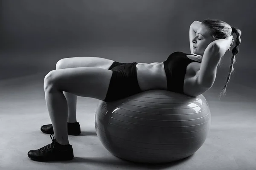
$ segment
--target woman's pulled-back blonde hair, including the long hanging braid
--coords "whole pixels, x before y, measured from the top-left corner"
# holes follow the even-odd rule
[[[232,49],[233,56],[231,58],[229,74],[227,77],[226,85],[222,88],[221,94],[219,95],[219,99],[220,99],[222,94],[224,95],[226,94],[227,83],[230,81],[230,75],[234,71],[233,65],[236,62],[236,54],[238,54],[239,52],[238,46],[241,43],[241,38],[240,38],[241,30],[235,27],[231,27],[229,24],[225,23],[224,21],[215,20],[215,19],[203,20],[201,24],[209,28],[209,31],[210,31],[210,34],[212,35],[213,40],[225,39],[226,37],[233,35],[233,33],[236,33],[236,45]]]

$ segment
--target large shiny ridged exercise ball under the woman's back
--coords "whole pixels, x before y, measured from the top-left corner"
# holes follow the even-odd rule
[[[113,102],[100,101],[95,128],[114,156],[166,163],[194,154],[209,133],[211,113],[203,95],[149,90]]]

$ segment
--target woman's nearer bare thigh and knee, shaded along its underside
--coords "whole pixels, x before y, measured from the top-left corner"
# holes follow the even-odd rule
[[[104,100],[112,71],[96,67],[64,68],[50,71],[44,78],[44,90],[57,89],[82,97]]]

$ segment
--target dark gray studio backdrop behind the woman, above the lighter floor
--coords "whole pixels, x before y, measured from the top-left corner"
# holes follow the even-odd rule
[[[51,71],[61,58],[163,62],[189,53],[194,20],[224,20],[242,30],[232,82],[254,87],[254,0],[2,0],[0,79]],[[218,68],[224,86],[231,52]],[[221,78],[221,76],[223,76]]]

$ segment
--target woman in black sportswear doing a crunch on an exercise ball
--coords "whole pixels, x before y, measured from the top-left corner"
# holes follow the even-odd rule
[[[68,134],[81,133],[76,122],[77,96],[91,97],[106,102],[150,89],[164,89],[198,96],[212,87],[217,66],[233,45],[230,73],[222,92],[225,92],[233,64],[239,51],[241,31],[220,20],[195,21],[189,30],[191,54],[174,52],[164,62],[120,63],[99,57],[61,59],[56,70],[44,79],[47,109],[52,125],[44,125],[44,133],[53,134],[52,143],[38,150],[30,150],[35,161],[73,159],[73,148]],[[68,122],[68,123],[67,123]],[[52,138],[53,135],[50,135]]]

